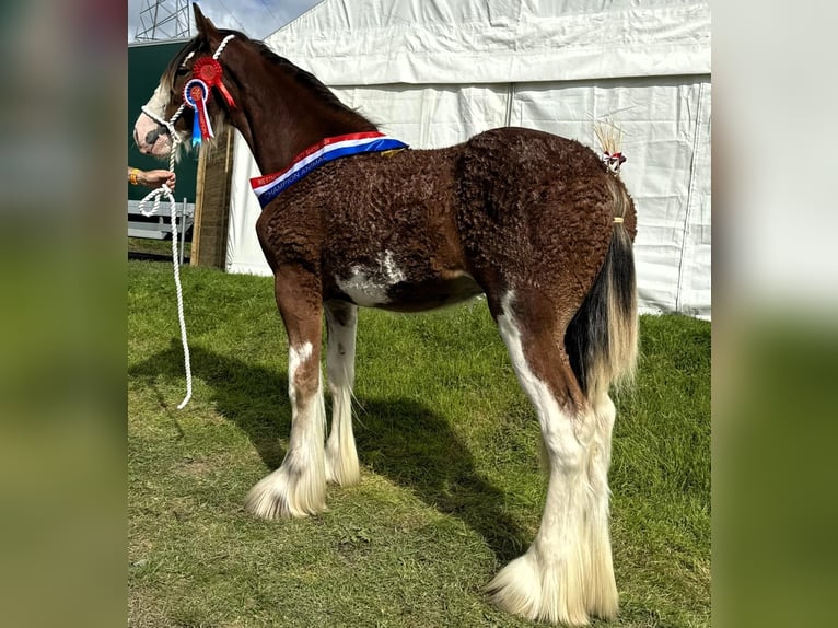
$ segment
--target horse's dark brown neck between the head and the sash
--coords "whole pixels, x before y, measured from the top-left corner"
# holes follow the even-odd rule
[[[349,108],[325,102],[311,85],[294,77],[293,66],[263,62],[269,68],[261,81],[248,81],[231,121],[244,137],[263,174],[284,170],[293,158],[323,140],[345,133],[375,130]],[[247,74],[241,74],[247,75]]]

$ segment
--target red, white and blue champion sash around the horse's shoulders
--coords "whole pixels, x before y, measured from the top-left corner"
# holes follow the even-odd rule
[[[350,133],[326,138],[298,154],[291,165],[281,172],[251,179],[251,187],[263,208],[279,193],[325,163],[360,153],[382,152],[407,148],[407,144],[379,131]]]

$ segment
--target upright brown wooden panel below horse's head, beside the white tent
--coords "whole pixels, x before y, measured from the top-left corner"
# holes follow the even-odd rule
[[[226,129],[214,148],[202,146],[198,154],[191,266],[224,268],[232,177],[233,133]]]

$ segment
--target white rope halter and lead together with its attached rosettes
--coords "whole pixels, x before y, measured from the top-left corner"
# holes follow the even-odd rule
[[[195,81],[198,81],[203,85],[205,94],[202,102],[206,104],[206,98],[209,97],[209,91],[211,88],[217,88],[221,92],[221,94],[226,100],[228,104],[231,107],[235,106],[235,103],[233,102],[233,98],[230,96],[230,93],[226,91],[226,88],[221,83],[221,66],[218,62],[218,58],[221,55],[221,53],[224,50],[224,47],[228,45],[228,43],[234,37],[235,35],[228,35],[221,40],[221,44],[219,44],[219,47],[216,49],[216,53],[212,55],[212,59],[208,57],[203,57],[201,59],[198,59],[196,61],[195,67],[193,68],[194,73],[199,74],[196,75],[194,79],[188,81],[186,83],[186,86],[188,88],[191,83],[195,83]],[[189,53],[187,57],[184,59],[184,63],[188,61],[195,53]],[[203,61],[206,59],[206,61]],[[210,68],[210,71],[207,71],[207,68]],[[197,85],[200,88],[200,85]],[[177,144],[181,142],[181,138],[178,137],[177,132],[175,131],[175,121],[177,121],[177,118],[181,117],[181,114],[184,113],[184,108],[189,104],[193,108],[196,109],[195,117],[196,117],[196,124],[199,125],[199,130],[201,131],[201,135],[199,136],[199,141],[195,142],[195,136],[193,136],[193,143],[200,143],[200,139],[203,138],[203,127],[200,126],[199,118],[206,121],[207,128],[209,129],[209,137],[212,137],[212,127],[209,126],[209,117],[206,114],[206,106],[203,106],[202,112],[199,112],[199,105],[198,103],[190,103],[189,100],[186,97],[186,90],[184,93],[184,102],[181,103],[181,106],[177,107],[177,111],[174,113],[171,119],[164,120],[159,115],[156,115],[151,109],[147,108],[146,105],[141,107],[141,111],[143,114],[149,116],[152,120],[158,123],[159,125],[162,125],[168,129],[168,137],[171,138],[171,146],[168,149],[168,170],[174,172],[175,170],[175,155],[177,154]],[[193,129],[195,131],[195,129]],[[140,213],[142,216],[154,216],[160,210],[160,199],[161,197],[165,196],[168,199],[170,205],[170,216],[172,217],[172,265],[174,266],[174,274],[175,274],[175,291],[177,292],[177,321],[181,325],[181,341],[184,346],[184,365],[186,369],[186,396],[184,397],[184,400],[181,402],[181,404],[177,406],[178,410],[182,410],[186,404],[189,403],[189,399],[193,396],[193,373],[191,373],[191,367],[189,364],[189,345],[186,339],[186,321],[184,319],[184,296],[183,296],[183,289],[181,287],[181,267],[177,261],[177,208],[175,205],[175,197],[172,194],[172,188],[170,188],[165,183],[162,184],[158,189],[154,189],[147,194],[143,199],[139,203]],[[154,206],[150,211],[146,211],[146,203],[149,201],[149,199],[154,199]]]

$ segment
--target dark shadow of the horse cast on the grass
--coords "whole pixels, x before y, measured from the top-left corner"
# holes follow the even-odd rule
[[[190,348],[191,368],[212,388],[212,403],[243,430],[265,465],[280,465],[291,427],[288,374],[200,346]],[[179,344],[129,368],[129,377],[183,376]],[[360,398],[354,415],[361,463],[410,489],[428,505],[462,520],[481,535],[501,562],[519,556],[525,535],[504,512],[503,492],[475,469],[474,457],[449,421],[414,399]],[[328,408],[327,408],[328,412]],[[244,496],[243,496],[244,497]]]

